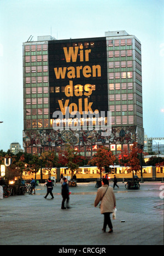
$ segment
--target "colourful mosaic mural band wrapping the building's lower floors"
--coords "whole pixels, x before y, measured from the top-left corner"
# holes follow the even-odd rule
[[[104,131],[73,131],[73,130],[26,130],[23,134],[26,147],[87,146],[95,144],[132,144],[143,143],[143,132],[136,126],[112,127],[110,136],[104,137]]]

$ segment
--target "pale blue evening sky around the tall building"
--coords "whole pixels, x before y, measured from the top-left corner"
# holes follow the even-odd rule
[[[143,120],[149,137],[164,137],[163,0],[0,0],[0,150],[22,146],[22,43],[103,37],[125,30],[142,44]]]

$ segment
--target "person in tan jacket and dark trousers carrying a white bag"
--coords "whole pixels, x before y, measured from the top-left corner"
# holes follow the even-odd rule
[[[106,232],[107,225],[109,226],[109,233],[113,232],[112,222],[110,220],[110,213],[113,213],[116,207],[116,199],[112,187],[109,187],[108,179],[102,179],[102,187],[97,190],[95,199],[95,207],[101,201],[101,214],[104,214],[103,231]]]

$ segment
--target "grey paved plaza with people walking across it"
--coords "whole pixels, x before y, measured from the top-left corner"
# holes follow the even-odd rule
[[[144,182],[140,190],[118,184],[113,234],[102,232],[103,216],[94,207],[95,183],[69,188],[67,210],[61,210],[61,184],[54,187],[54,200],[50,195],[44,199],[42,184],[36,187],[36,195],[0,200],[0,245],[163,245],[164,183]]]

